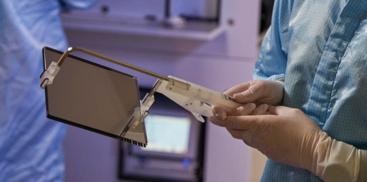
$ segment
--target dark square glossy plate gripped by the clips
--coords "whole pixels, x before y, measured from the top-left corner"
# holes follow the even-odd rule
[[[44,70],[62,52],[44,47]],[[135,77],[68,55],[46,91],[47,117],[139,146],[147,144],[144,122],[122,131],[140,107]]]

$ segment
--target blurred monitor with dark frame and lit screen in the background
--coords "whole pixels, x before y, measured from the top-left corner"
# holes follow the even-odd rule
[[[140,89],[140,95],[149,90]],[[155,93],[145,118],[146,148],[121,143],[120,177],[154,182],[201,182],[205,123],[166,96]]]

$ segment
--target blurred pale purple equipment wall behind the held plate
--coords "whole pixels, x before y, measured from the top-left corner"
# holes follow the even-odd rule
[[[160,21],[164,11],[164,0],[99,0],[88,10],[62,12],[62,22],[69,46],[82,46],[162,75],[216,91],[252,80],[258,54],[260,0],[222,0],[220,4],[217,0],[175,0],[171,2],[172,16],[203,21],[188,28],[146,25],[147,15]],[[128,73],[137,76],[144,88],[151,88],[156,80]],[[66,182],[122,181],[118,178],[118,140],[72,126],[67,129],[63,141]],[[210,122],[206,125],[204,156],[205,182],[259,181],[266,160]]]

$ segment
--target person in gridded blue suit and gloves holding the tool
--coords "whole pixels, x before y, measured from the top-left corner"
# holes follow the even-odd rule
[[[209,120],[269,158],[263,182],[366,182],[366,50],[366,0],[275,0],[254,81],[225,92],[247,104]]]

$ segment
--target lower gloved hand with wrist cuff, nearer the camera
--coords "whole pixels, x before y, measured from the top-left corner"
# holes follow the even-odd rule
[[[214,116],[209,120],[225,127],[238,139],[269,159],[309,170],[325,181],[355,182],[360,150],[329,137],[299,109],[268,106],[260,116]]]

